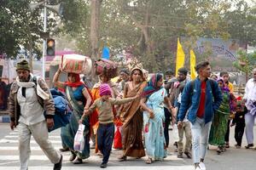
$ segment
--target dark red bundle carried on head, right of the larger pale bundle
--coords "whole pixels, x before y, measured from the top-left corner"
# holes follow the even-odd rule
[[[105,74],[110,78],[118,76],[118,66],[109,59],[99,59],[95,62],[96,75]]]

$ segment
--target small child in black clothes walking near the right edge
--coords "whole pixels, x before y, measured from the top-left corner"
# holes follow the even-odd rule
[[[235,126],[235,139],[236,139],[236,148],[241,148],[241,139],[244,133],[244,127],[245,127],[245,114],[247,113],[247,107],[244,106],[244,109],[242,111],[242,105],[237,104],[236,105],[236,114],[235,118],[233,119],[233,122],[231,124],[231,127]]]

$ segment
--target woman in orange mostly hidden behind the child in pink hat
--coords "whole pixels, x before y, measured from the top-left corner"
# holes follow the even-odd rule
[[[99,76],[99,82],[97,82],[94,85],[94,87],[91,89],[91,95],[92,95],[93,100],[101,98],[101,96],[100,96],[100,86],[101,86],[102,83],[108,83],[109,87],[111,88],[112,98],[116,98],[119,95],[116,84],[111,82],[111,79],[110,79],[110,77],[108,77],[107,74],[101,74]],[[98,152],[98,148],[97,148],[97,145],[96,145],[96,132],[97,132],[97,128],[99,126],[99,123],[98,123],[97,117],[98,117],[97,110],[94,111],[90,115],[90,126],[92,127],[92,132],[93,132],[92,137],[91,137],[91,139],[93,141],[93,147],[91,147],[91,148],[95,148],[95,153]]]

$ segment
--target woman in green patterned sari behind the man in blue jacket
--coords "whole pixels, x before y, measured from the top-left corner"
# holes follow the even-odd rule
[[[230,94],[229,88],[224,85],[223,79],[218,79],[218,86],[223,94],[223,101],[215,112],[212,120],[212,127],[209,136],[209,144],[217,145],[217,153],[220,154],[225,150],[225,133],[227,131],[227,123],[230,117],[231,101],[235,99],[233,94]]]

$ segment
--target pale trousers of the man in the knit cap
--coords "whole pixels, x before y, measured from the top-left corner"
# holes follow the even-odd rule
[[[48,129],[45,121],[38,122],[34,125],[26,125],[20,122],[17,128],[19,131],[20,170],[26,170],[28,167],[28,160],[31,155],[31,135],[44,151],[44,154],[49,158],[49,161],[54,164],[60,161],[61,154],[55,150],[49,141]]]

